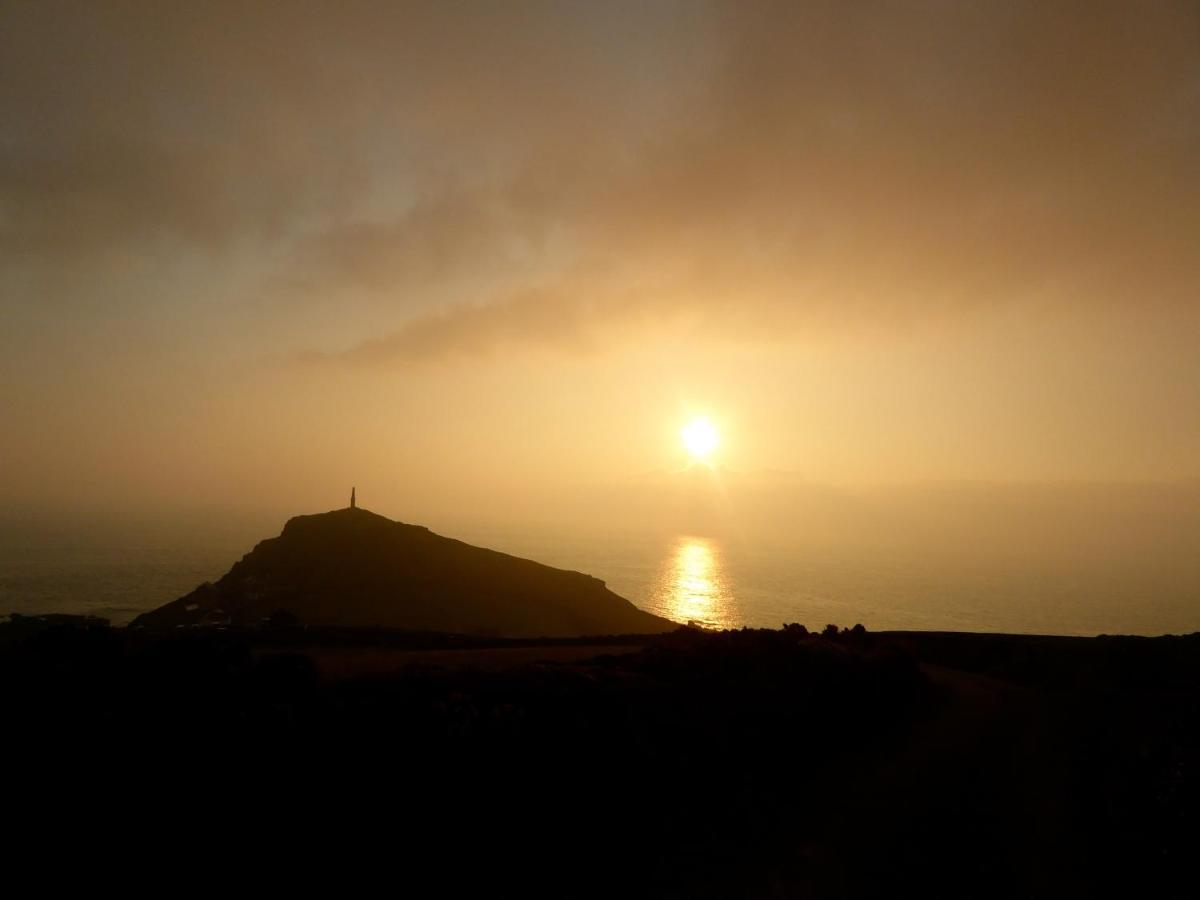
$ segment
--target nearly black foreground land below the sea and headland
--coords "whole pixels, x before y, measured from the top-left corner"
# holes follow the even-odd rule
[[[1200,893],[1200,635],[50,617],[0,625],[0,684],[10,862],[413,896]]]

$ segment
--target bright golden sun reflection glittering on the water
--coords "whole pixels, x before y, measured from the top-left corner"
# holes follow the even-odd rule
[[[728,628],[736,620],[720,547],[706,538],[679,538],[655,590],[661,614],[676,622]]]

